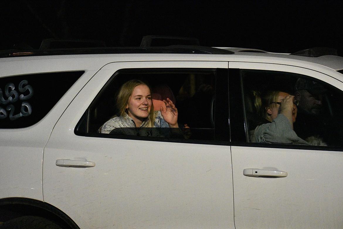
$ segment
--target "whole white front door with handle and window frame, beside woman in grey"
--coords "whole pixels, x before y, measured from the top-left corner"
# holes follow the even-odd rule
[[[328,107],[331,112],[326,124],[335,120],[331,134],[341,139],[342,82],[294,66],[230,62],[229,68],[230,78],[241,79],[230,96],[243,95],[236,99],[235,107],[231,107],[230,99],[230,115],[235,115],[230,123],[236,131],[231,131],[236,228],[342,228],[341,140],[335,146],[300,146],[253,143],[249,139],[249,131],[255,128],[249,128],[254,107],[254,101],[249,101],[251,90],[256,90],[256,85],[261,85],[260,90],[284,86],[291,90],[298,78],[326,88],[322,108]],[[299,114],[299,106],[297,109]],[[245,136],[241,134],[244,130]]]

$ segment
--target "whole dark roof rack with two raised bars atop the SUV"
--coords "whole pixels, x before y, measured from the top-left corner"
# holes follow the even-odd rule
[[[153,39],[166,39],[152,45]],[[173,41],[173,42],[171,42]],[[175,42],[176,41],[176,42]],[[169,44],[171,42],[171,44]],[[175,44],[179,43],[179,44]],[[182,45],[186,43],[186,45]],[[156,46],[159,44],[160,46]],[[167,46],[166,46],[167,45]],[[145,36],[140,47],[106,47],[105,42],[86,39],[44,39],[39,49],[29,46],[0,51],[0,58],[14,56],[51,56],[80,54],[234,54],[222,48],[199,46],[197,38],[175,36]]]

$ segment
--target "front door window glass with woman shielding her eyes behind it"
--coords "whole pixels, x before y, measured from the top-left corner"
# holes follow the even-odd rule
[[[241,70],[248,142],[342,147],[343,92],[304,75]]]

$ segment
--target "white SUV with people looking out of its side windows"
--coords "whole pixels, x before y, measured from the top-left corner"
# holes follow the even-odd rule
[[[0,228],[343,228],[343,57],[50,49],[0,69]],[[168,91],[184,135],[99,133],[130,79]],[[298,79],[324,88],[318,131],[298,120],[324,144],[252,142],[251,93]]]

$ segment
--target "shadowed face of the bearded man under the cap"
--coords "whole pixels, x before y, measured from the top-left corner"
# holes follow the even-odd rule
[[[323,101],[322,94],[311,94],[307,90],[301,90],[296,92],[295,99],[299,101],[299,107],[303,110],[319,114]]]

